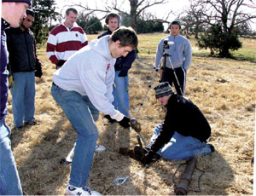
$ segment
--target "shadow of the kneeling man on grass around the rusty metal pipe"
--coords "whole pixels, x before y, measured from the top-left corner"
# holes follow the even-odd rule
[[[185,163],[184,160],[168,161],[161,160],[160,164],[154,164],[154,171],[161,177],[162,182],[170,187],[170,194],[175,195],[174,187],[177,186],[179,179],[183,174],[186,164],[182,165],[173,178],[175,171],[180,164]],[[165,167],[164,165],[170,165]],[[230,164],[224,157],[215,151],[205,157],[197,159],[196,167],[199,170],[194,170],[192,181],[189,185],[189,195],[228,195],[229,187],[234,181],[234,173]],[[172,170],[170,170],[172,168]],[[168,170],[166,170],[168,169]],[[202,174],[201,170],[204,171]],[[202,176],[201,176],[202,175]],[[201,179],[199,177],[201,176]],[[174,182],[173,182],[174,181]],[[201,188],[200,192],[198,187]],[[211,183],[210,183],[211,182]]]

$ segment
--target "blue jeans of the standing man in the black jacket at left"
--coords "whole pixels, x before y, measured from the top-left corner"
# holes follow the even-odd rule
[[[35,114],[35,72],[14,72],[11,89],[15,127],[32,122]]]

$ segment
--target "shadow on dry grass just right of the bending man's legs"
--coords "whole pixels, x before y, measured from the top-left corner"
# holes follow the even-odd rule
[[[107,148],[106,152],[95,153],[94,162],[90,171],[90,185],[97,187],[103,195],[132,195],[142,194],[131,181],[125,186],[117,186],[114,180],[131,174],[131,159],[119,154],[121,147],[130,148],[130,130],[123,129],[119,124],[102,126],[98,144]]]

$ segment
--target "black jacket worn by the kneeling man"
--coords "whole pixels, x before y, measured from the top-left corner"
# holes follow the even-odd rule
[[[211,127],[207,118],[192,101],[181,95],[172,95],[166,105],[167,112],[160,135],[151,146],[157,152],[160,147],[172,139],[175,131],[184,136],[192,136],[206,141],[211,135]]]

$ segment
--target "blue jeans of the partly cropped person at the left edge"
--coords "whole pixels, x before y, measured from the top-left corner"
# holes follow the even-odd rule
[[[9,140],[10,130],[0,121],[0,195],[22,195],[20,177]]]

